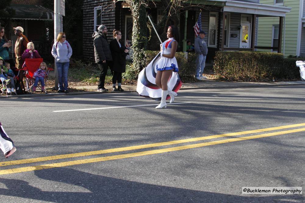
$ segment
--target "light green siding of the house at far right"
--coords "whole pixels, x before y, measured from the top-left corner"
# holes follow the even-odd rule
[[[274,5],[274,0],[260,0],[260,3]],[[283,6],[291,7],[292,9],[290,10],[290,12],[286,13],[286,17],[283,23],[282,53],[284,53],[285,56],[296,55],[300,0],[284,0]],[[257,46],[271,46],[272,26],[278,24],[279,24],[278,17],[258,18]],[[271,50],[258,49],[257,51],[271,51]]]

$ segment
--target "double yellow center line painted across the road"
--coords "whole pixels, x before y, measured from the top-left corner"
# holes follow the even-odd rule
[[[66,158],[81,157],[81,156],[91,156],[91,155],[99,155],[99,154],[106,154],[106,153],[113,153],[113,152],[123,152],[123,151],[135,150],[135,149],[145,149],[145,148],[160,147],[160,146],[165,146],[165,145],[181,144],[181,143],[186,143],[186,142],[196,142],[196,141],[202,141],[202,140],[214,139],[214,138],[222,138],[222,137],[230,137],[230,136],[237,136],[237,135],[246,135],[246,134],[251,134],[251,133],[260,133],[260,132],[265,132],[265,131],[281,130],[281,129],[286,129],[286,128],[296,128],[296,127],[301,127],[301,126],[305,126],[305,123],[285,125],[285,126],[279,126],[279,127],[274,127],[274,128],[263,128],[263,129],[258,129],[258,130],[242,131],[242,132],[235,132],[235,133],[227,133],[227,134],[221,134],[221,135],[211,135],[211,136],[205,136],[205,137],[199,137],[199,138],[189,138],[189,139],[175,140],[175,141],[169,141],[169,142],[159,142],[159,143],[137,145],[137,146],[130,146],[130,147],[104,149],[104,150],[91,151],[91,152],[80,152],[80,153],[73,153],[73,154],[38,157],[38,158],[32,158],[32,159],[21,159],[21,160],[16,160],[16,161],[0,162],[0,166],[35,163],[35,162],[41,162],[41,161],[50,161],[50,160],[56,160],[56,159],[66,159]],[[48,168],[72,166],[72,165],[83,164],[83,163],[95,163],[95,162],[115,160],[115,159],[124,159],[124,158],[136,157],[136,156],[159,154],[159,153],[164,153],[164,152],[173,152],[173,151],[178,151],[178,150],[183,150],[183,149],[192,149],[192,148],[197,148],[197,147],[236,142],[236,141],[241,141],[241,140],[263,138],[263,137],[269,137],[269,136],[275,136],[275,135],[283,135],[283,134],[295,133],[295,132],[300,132],[300,131],[305,131],[305,128],[297,128],[297,129],[292,129],[292,130],[287,130],[287,131],[278,131],[278,132],[265,133],[265,134],[260,134],[260,135],[251,135],[251,136],[240,137],[240,138],[230,138],[230,139],[217,140],[217,141],[212,141],[212,142],[203,142],[203,143],[199,143],[199,144],[183,145],[183,146],[178,146],[178,147],[170,147],[170,148],[149,150],[149,151],[143,151],[143,152],[127,153],[127,154],[115,155],[115,156],[105,156],[105,157],[99,157],[99,158],[81,159],[81,160],[66,161],[66,162],[60,162],[60,163],[44,164],[44,165],[38,165],[38,166],[28,166],[28,167],[21,167],[21,168],[5,169],[5,170],[0,170],[0,175],[10,174],[10,173],[20,173],[20,172],[33,171],[33,170],[42,170],[42,169],[48,169]]]

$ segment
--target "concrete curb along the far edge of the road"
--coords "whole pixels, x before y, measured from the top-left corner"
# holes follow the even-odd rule
[[[305,85],[305,83],[286,83],[286,84],[253,84],[253,85],[209,85],[202,87],[182,87],[180,89],[224,89],[224,88],[246,88],[246,87],[272,87],[272,86],[300,86]],[[124,90],[124,92],[136,92],[136,90]],[[22,94],[22,95],[10,95],[10,96],[0,96],[1,98],[19,98],[19,97],[35,97],[35,96],[68,96],[68,95],[80,95],[80,94],[105,94],[105,93],[124,93],[124,92],[75,92],[75,93],[48,93],[48,94]]]

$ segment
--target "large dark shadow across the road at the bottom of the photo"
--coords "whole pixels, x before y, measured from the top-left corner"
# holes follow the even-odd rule
[[[69,168],[38,170],[35,175],[43,180],[69,184],[73,191],[42,191],[23,180],[0,178],[0,183],[8,189],[0,188],[1,195],[21,197],[31,200],[51,202],[303,202],[301,195],[249,196],[245,194],[230,195],[205,191],[188,190],[139,183],[85,173]],[[45,181],[39,181],[41,184]],[[50,183],[48,183],[50,184]],[[203,183],[204,184],[204,183]],[[77,186],[77,187],[76,187]],[[61,185],[61,187],[63,187]],[[82,189],[83,188],[83,189]],[[66,189],[69,190],[69,189]],[[240,188],[241,190],[241,188]],[[241,192],[241,191],[240,191]],[[3,199],[2,199],[3,202]]]

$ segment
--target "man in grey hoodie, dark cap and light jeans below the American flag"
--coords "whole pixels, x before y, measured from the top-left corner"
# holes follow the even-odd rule
[[[200,30],[194,44],[195,52],[197,55],[195,75],[197,80],[206,79],[206,77],[202,75],[204,67],[206,66],[206,54],[208,53],[208,47],[206,46],[206,42],[203,39],[205,36],[206,33],[203,30]]]

